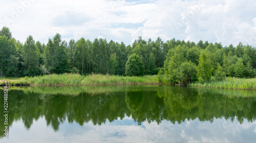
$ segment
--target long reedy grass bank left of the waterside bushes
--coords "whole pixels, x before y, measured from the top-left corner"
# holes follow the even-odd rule
[[[6,78],[8,79],[8,78]],[[156,75],[150,76],[118,76],[91,74],[87,76],[79,74],[51,74],[36,77],[25,77],[10,80],[12,85],[114,85],[114,84],[158,84]],[[4,81],[1,81],[4,85]]]

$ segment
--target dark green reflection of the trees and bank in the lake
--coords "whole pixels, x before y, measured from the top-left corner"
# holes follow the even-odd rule
[[[101,125],[106,120],[122,120],[125,116],[138,124],[162,121],[180,124],[195,119],[212,122],[224,117],[243,124],[254,123],[256,114],[255,91],[251,90],[147,85],[12,87],[9,91],[12,116],[8,118],[8,125],[14,126],[15,121],[23,120],[28,130],[38,118],[46,120],[47,125],[57,131],[63,122],[82,127],[91,122]],[[0,101],[3,100],[4,96],[0,96]],[[1,105],[3,112],[4,104]],[[0,129],[4,128],[1,124]]]

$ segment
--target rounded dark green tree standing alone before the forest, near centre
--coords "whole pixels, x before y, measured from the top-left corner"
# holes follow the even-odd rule
[[[141,76],[144,75],[144,66],[141,58],[136,54],[131,54],[125,65],[127,76]]]

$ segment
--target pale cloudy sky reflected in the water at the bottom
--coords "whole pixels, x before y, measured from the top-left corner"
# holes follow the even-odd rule
[[[58,131],[47,126],[44,118],[33,121],[30,129],[24,127],[23,121],[12,124],[8,140],[0,142],[253,142],[255,141],[256,122],[244,121],[240,124],[237,119],[215,119],[214,122],[200,122],[198,119],[172,124],[162,121],[141,126],[130,117],[120,118],[112,123],[108,120],[102,125],[93,125],[92,122],[60,124]],[[40,130],[38,130],[40,129]]]

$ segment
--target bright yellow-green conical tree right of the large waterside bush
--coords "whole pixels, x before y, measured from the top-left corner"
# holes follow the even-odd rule
[[[199,64],[197,66],[197,77],[199,82],[209,81],[212,76],[211,61],[208,58],[209,53],[202,51],[199,58]]]

